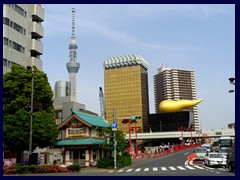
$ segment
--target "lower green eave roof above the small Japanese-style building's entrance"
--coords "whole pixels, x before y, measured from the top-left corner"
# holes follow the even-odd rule
[[[105,141],[102,138],[78,138],[78,139],[62,139],[57,141],[55,146],[76,146],[76,145],[100,145]]]

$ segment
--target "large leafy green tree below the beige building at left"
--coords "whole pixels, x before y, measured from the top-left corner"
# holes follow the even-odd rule
[[[47,75],[34,68],[32,149],[52,145],[58,136],[54,118],[53,92]],[[17,162],[29,149],[32,72],[23,66],[12,66],[3,75],[3,141]]]

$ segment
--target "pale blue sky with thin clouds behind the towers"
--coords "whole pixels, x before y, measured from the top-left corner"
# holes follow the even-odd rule
[[[76,8],[78,102],[100,113],[103,62],[139,54],[148,63],[150,113],[153,76],[162,65],[195,71],[200,127],[220,129],[235,122],[235,6],[228,4],[42,4],[45,8],[43,71],[54,88],[68,80],[66,63]]]

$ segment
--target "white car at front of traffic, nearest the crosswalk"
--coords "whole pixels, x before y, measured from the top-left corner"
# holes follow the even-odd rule
[[[206,166],[225,166],[226,167],[226,158],[224,158],[223,155],[218,152],[207,152],[207,155],[204,158],[204,164]]]

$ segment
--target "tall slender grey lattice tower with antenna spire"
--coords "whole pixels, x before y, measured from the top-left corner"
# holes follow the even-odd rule
[[[71,83],[71,97],[73,101],[77,100],[77,73],[80,64],[77,62],[77,43],[75,36],[75,8],[72,8],[72,37],[69,45],[70,61],[66,64],[69,73],[69,81]]]

